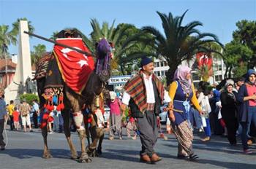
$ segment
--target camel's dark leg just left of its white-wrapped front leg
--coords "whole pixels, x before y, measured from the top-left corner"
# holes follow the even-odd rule
[[[78,153],[77,153],[75,146],[71,140],[71,133],[70,133],[70,127],[69,127],[69,111],[67,111],[67,110],[62,111],[61,114],[62,114],[62,117],[64,120],[64,133],[67,138],[67,144],[69,144],[71,158],[78,159]]]

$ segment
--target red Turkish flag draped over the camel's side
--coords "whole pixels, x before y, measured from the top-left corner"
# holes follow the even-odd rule
[[[56,39],[56,42],[89,52],[80,38],[61,38]],[[53,50],[64,82],[75,93],[81,93],[86,86],[89,75],[94,70],[93,57],[59,45],[55,45]]]

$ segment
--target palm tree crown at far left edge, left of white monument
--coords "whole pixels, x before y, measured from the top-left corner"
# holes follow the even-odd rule
[[[9,31],[9,25],[0,25],[0,58],[3,59],[7,57],[7,50],[10,44],[16,44],[16,36]]]

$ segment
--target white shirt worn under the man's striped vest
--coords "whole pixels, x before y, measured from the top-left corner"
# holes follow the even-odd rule
[[[152,82],[152,75],[149,76],[148,78],[146,78],[146,74],[143,74],[143,79],[144,79],[144,83],[146,86],[147,103],[155,103],[156,101],[154,99],[154,88],[153,88],[153,82]],[[131,96],[126,91],[124,91],[122,103],[128,105],[130,99],[131,99]],[[166,91],[164,94],[164,102],[165,103],[170,102],[170,97]]]

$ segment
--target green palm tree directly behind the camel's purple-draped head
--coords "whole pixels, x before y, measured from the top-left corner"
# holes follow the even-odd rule
[[[121,73],[124,74],[124,67],[131,60],[135,58],[140,58],[142,55],[148,54],[145,52],[145,48],[141,47],[141,44],[138,44],[138,39],[140,38],[141,42],[143,39],[142,35],[145,35],[145,32],[141,33],[138,28],[135,28],[131,24],[119,24],[114,28],[115,20],[113,23],[108,25],[108,23],[103,22],[102,27],[99,25],[99,22],[96,19],[91,20],[91,27],[93,31],[91,33],[92,42],[96,43],[100,38],[105,37],[109,42],[114,44],[114,59],[111,63],[113,69],[120,67]],[[134,33],[134,36],[129,36],[129,31]],[[144,46],[145,47],[145,46]],[[129,64],[132,66],[132,64]]]

